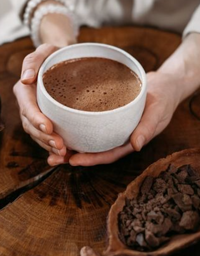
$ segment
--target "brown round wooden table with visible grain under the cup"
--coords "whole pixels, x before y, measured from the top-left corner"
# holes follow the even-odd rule
[[[145,70],[157,69],[181,43],[176,34],[150,28],[83,28],[80,42],[125,49]],[[25,132],[12,93],[21,63],[33,51],[29,38],[0,47],[0,255],[75,256],[84,245],[102,252],[106,216],[119,192],[149,164],[174,151],[200,146],[200,96],[177,109],[170,125],[139,153],[110,165],[50,168],[46,152]],[[199,255],[200,243],[177,255]]]

